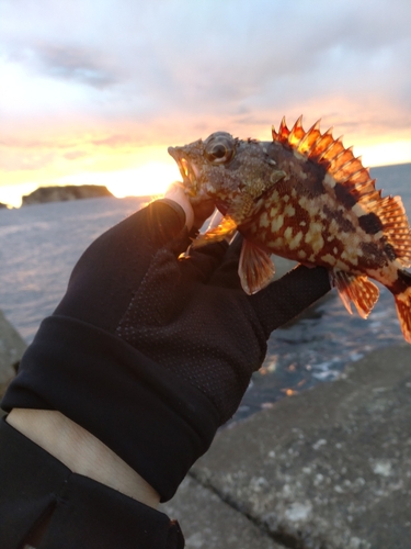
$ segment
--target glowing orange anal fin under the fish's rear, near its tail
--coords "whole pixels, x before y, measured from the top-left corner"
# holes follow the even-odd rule
[[[331,278],[349,313],[352,314],[353,302],[359,316],[366,318],[378,300],[378,288],[366,276],[345,271],[332,271]]]

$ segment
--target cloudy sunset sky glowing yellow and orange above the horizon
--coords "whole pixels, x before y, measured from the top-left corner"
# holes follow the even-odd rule
[[[365,166],[411,161],[410,0],[0,0],[0,202],[161,193],[168,146],[300,114]]]

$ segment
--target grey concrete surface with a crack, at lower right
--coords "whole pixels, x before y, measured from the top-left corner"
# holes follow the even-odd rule
[[[168,507],[189,549],[410,549],[411,347],[221,430],[191,474]]]

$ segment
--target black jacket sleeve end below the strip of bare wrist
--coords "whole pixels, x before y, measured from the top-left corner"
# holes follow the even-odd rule
[[[0,419],[0,547],[23,547],[49,513],[38,547],[182,549],[167,515],[81,474]],[[24,545],[24,547],[26,547]]]

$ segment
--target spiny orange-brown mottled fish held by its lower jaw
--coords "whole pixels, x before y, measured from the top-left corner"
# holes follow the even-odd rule
[[[288,128],[283,117],[270,142],[218,131],[168,150],[190,200],[212,199],[222,214],[192,247],[239,232],[239,277],[248,294],[273,280],[274,254],[327,268],[349,313],[353,304],[366,318],[379,296],[374,279],[393,294],[411,343],[411,229],[402,200],[383,198],[333,128],[322,133],[318,121],[305,131],[302,116]]]

